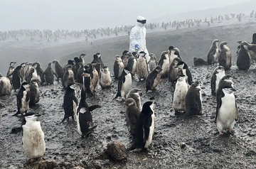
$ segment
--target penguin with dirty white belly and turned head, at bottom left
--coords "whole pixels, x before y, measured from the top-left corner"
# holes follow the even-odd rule
[[[40,121],[37,121],[40,114],[27,113],[21,124],[22,146],[25,155],[30,159],[39,158],[42,160],[46,152],[46,142]]]

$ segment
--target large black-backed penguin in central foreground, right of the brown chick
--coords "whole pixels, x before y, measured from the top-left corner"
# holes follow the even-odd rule
[[[132,146],[128,148],[128,151],[132,151],[135,148],[149,148],[154,135],[156,120],[153,105],[153,102],[145,102],[143,104],[142,112],[139,114],[135,126],[133,143]]]

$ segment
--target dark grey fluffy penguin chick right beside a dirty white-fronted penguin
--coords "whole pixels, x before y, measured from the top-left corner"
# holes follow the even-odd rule
[[[202,93],[199,82],[193,82],[186,94],[186,115],[194,116],[202,114]]]

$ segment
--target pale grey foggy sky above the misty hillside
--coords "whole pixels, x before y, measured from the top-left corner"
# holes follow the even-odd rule
[[[138,15],[150,21],[172,13],[242,2],[245,0],[0,0],[0,31],[113,28],[134,25]]]

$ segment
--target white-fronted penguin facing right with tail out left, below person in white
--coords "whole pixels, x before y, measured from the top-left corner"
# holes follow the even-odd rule
[[[118,88],[117,88],[117,94],[114,97],[114,99],[117,99],[117,97],[122,97],[122,99],[125,99],[129,90],[132,88],[132,75],[124,68],[124,71],[122,72],[122,76],[119,79],[118,82]]]

